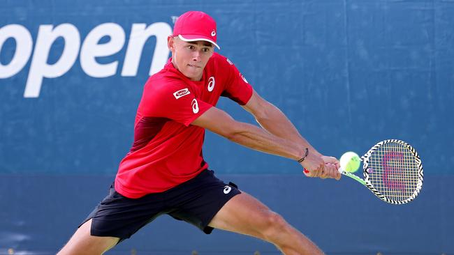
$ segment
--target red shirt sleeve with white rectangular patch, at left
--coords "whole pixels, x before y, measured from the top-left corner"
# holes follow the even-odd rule
[[[140,105],[145,116],[169,118],[186,126],[212,107],[196,98],[183,82],[145,87]]]

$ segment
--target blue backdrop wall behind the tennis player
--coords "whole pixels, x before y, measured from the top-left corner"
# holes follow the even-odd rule
[[[154,50],[186,10],[217,20],[220,53],[322,153],[362,153],[377,141],[402,139],[420,153],[425,185],[416,201],[390,206],[351,180],[306,180],[295,162],[208,133],[204,155],[212,169],[242,183],[327,252],[454,254],[448,241],[454,240],[448,217],[454,214],[454,1],[441,0],[2,1],[0,254],[10,247],[56,251],[103,197],[131,146],[150,66],[168,56]],[[138,42],[132,28],[140,24],[153,24],[156,36],[142,52],[129,51]],[[45,29],[57,28],[66,31],[66,41],[49,40]],[[112,37],[103,36],[108,32]],[[104,56],[90,48],[96,33],[110,49]],[[13,34],[20,39],[7,36]],[[52,44],[46,48],[46,42]],[[135,58],[133,49],[140,53]],[[109,63],[113,68],[103,71]],[[254,121],[228,100],[218,107]],[[314,214],[319,225],[302,217]],[[368,229],[364,222],[371,220],[375,226]],[[156,228],[168,231],[166,224],[176,224],[184,236],[170,242],[152,224],[117,251],[138,247],[156,254],[166,245],[205,254],[273,250],[237,235],[203,237],[170,219],[159,219]]]

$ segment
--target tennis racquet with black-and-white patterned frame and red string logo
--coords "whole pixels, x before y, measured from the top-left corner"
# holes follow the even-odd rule
[[[389,139],[361,157],[364,179],[339,168],[388,203],[409,203],[423,187],[423,164],[416,150],[404,141]],[[305,172],[308,171],[305,169]]]

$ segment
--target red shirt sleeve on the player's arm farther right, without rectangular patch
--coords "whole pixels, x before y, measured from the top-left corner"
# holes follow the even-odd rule
[[[239,105],[246,105],[251,99],[253,88],[233,65],[229,59],[225,59],[228,68],[227,84],[222,92],[222,96],[228,97]]]

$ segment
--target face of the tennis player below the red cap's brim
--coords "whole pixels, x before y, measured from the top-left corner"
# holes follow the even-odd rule
[[[203,76],[203,68],[214,52],[213,45],[203,40],[185,42],[171,36],[167,41],[175,68],[192,81],[200,81]]]

